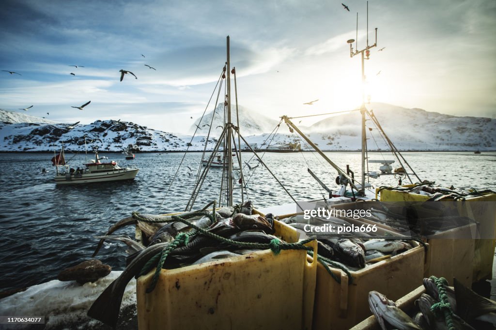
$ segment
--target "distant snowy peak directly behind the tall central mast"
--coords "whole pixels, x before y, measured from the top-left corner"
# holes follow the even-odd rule
[[[245,107],[238,106],[239,111],[239,119],[241,127],[241,135],[244,137],[253,134],[262,134],[271,132],[274,127],[279,123],[278,120],[271,119],[259,112],[248,110]],[[231,122],[237,125],[237,116],[236,116],[236,106],[231,105]],[[212,116],[214,117],[212,121]],[[191,125],[190,131],[194,132],[196,130],[196,125],[200,127],[200,129],[196,132],[196,134],[207,135],[209,126],[212,127],[210,136],[212,134],[214,136],[219,136],[222,133],[222,128],[217,126],[224,125],[224,104],[219,103],[217,108],[213,111],[205,113],[205,115],[200,118],[197,118],[194,121],[194,124]]]

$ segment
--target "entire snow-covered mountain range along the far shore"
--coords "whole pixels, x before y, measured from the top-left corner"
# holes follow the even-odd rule
[[[496,150],[496,119],[484,117],[457,117],[422,109],[406,109],[387,104],[372,104],[379,123],[400,150]],[[222,125],[223,105],[217,107],[212,130]],[[43,118],[26,116],[22,113],[1,110],[0,112],[0,151],[53,151],[62,141],[67,149],[84,150],[84,136],[87,141],[94,140],[93,146],[101,151],[121,151],[127,145],[137,145],[141,151],[190,151],[203,150],[210,112],[195,120],[202,129],[191,135],[173,134],[143,127],[132,122],[97,120],[87,125],[47,122]],[[216,117],[219,117],[218,119]],[[26,121],[23,121],[26,120]],[[264,148],[271,144],[301,142],[296,133],[289,132],[281,125],[278,133],[269,133],[278,124],[277,120],[267,118],[244,108],[240,109],[241,131],[250,144]],[[359,150],[361,148],[361,117],[359,111],[336,115],[323,119],[310,127],[301,127],[310,139],[324,151]],[[196,128],[194,125],[192,126]],[[368,149],[386,150],[387,146],[371,120],[367,121]],[[212,149],[221,128],[209,138]],[[201,135],[200,135],[201,134]],[[250,135],[254,134],[254,135]]]

